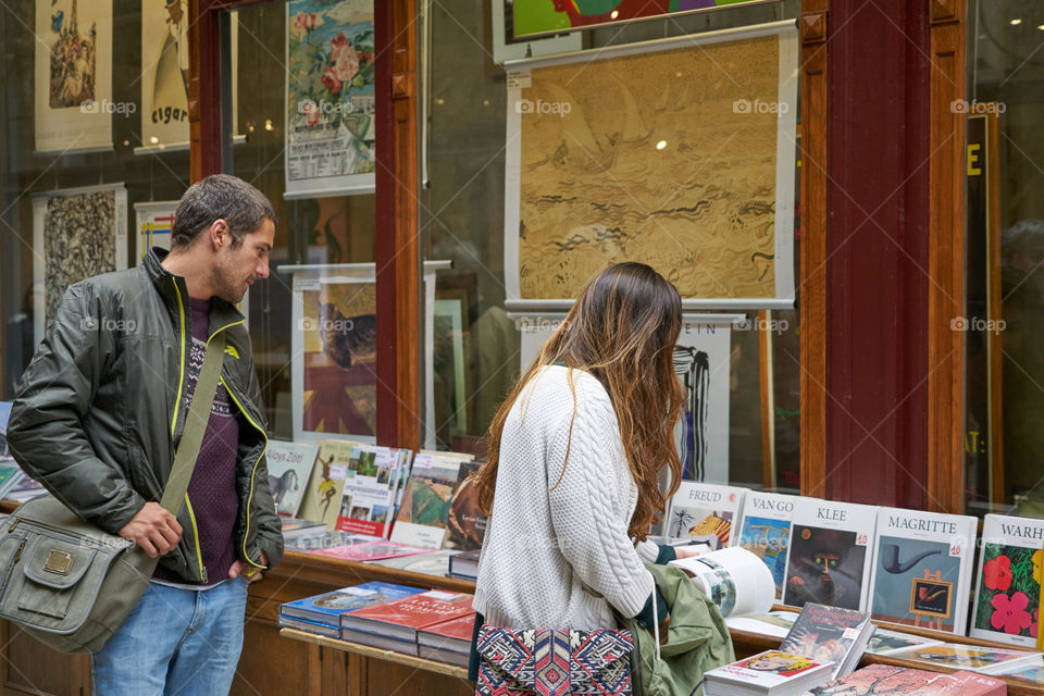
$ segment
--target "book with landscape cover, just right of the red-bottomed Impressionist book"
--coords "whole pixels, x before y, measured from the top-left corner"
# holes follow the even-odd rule
[[[443,548],[453,490],[461,462],[435,455],[418,455],[406,483],[391,540],[431,549]]]

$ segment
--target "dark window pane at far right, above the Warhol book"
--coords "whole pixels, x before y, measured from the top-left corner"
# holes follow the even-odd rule
[[[970,0],[968,32],[967,508],[1044,517],[1044,7]]]

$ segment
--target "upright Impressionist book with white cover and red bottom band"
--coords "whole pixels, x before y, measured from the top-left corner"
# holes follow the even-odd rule
[[[352,447],[334,529],[387,538],[400,465],[396,452],[387,447]]]

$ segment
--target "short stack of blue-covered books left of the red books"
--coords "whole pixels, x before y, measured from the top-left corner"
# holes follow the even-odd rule
[[[341,616],[424,592],[419,587],[370,582],[289,601],[279,607],[278,624],[330,638],[341,637]]]

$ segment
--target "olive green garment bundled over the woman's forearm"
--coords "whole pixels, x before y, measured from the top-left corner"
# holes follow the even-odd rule
[[[714,602],[680,569],[652,564],[646,568],[667,601],[671,622],[667,642],[658,645],[657,637],[634,619],[624,621],[624,627],[634,636],[634,651],[631,654],[634,693],[644,696],[699,695],[704,672],[736,659],[729,627]]]

